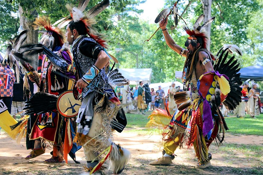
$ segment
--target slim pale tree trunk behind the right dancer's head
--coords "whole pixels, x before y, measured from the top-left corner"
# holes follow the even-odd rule
[[[204,22],[206,22],[209,18],[211,18],[211,5],[212,5],[212,0],[203,0],[203,11],[205,15]],[[205,31],[208,37],[206,49],[210,51],[211,24],[205,26]]]

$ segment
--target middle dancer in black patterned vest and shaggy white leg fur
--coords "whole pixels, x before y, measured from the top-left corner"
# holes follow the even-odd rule
[[[76,94],[76,98],[82,99],[74,141],[83,146],[87,159],[85,169],[90,174],[104,174],[102,164],[108,157],[109,168],[118,174],[124,169],[130,153],[113,141],[112,128],[121,132],[127,124],[113,86],[126,85],[129,81],[118,73],[118,69],[109,69],[109,57],[115,62],[117,60],[105,51],[105,40],[92,28],[92,17],[105,9],[109,1],[103,1],[87,13],[83,13],[88,2],[80,1],[78,8],[67,5],[71,17],[61,22],[64,24],[70,21],[66,28],[66,36],[68,43],[72,45],[78,80],[73,91],[74,94],[79,93]],[[116,120],[118,116],[122,117]],[[120,123],[122,119],[126,124]]]

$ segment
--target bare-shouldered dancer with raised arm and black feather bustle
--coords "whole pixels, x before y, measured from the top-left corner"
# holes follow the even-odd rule
[[[174,100],[181,104],[173,117],[168,112],[155,110],[149,116],[147,126],[161,126],[164,129],[163,157],[150,162],[150,165],[169,165],[174,158],[174,151],[185,142],[188,146],[194,146],[199,163],[196,168],[210,166],[211,155],[208,147],[212,141],[219,145],[224,139],[227,130],[224,118],[219,110],[221,102],[227,108],[233,109],[241,101],[241,85],[239,64],[234,56],[225,63],[228,52],[240,49],[236,45],[224,45],[217,55],[220,54],[213,66],[214,56],[206,49],[207,38],[201,29],[211,23],[211,18],[202,26],[204,15],[201,15],[193,29],[185,27],[184,30],[190,37],[185,42],[186,49],[177,45],[169,35],[166,24],[162,19],[159,23],[163,30],[166,44],[179,55],[186,57],[183,69],[184,92],[176,92]],[[222,51],[222,52],[221,52]],[[221,52],[221,53],[220,53]],[[236,65],[237,64],[237,65]],[[224,75],[225,74],[225,75]],[[231,93],[230,93],[231,88]],[[232,91],[233,90],[233,91]],[[223,132],[223,136],[219,135]]]

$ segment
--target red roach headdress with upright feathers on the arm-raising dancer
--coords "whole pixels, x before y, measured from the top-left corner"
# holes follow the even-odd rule
[[[201,47],[206,49],[206,44],[207,44],[207,36],[204,32],[202,32],[202,28],[207,26],[208,24],[210,24],[211,22],[213,22],[213,20],[215,19],[215,17],[211,17],[210,19],[208,19],[203,25],[200,26],[200,23],[204,20],[205,15],[201,14],[198,19],[196,20],[193,29],[189,29],[187,26],[184,27],[184,30],[186,31],[186,33],[188,35],[190,35],[190,37],[188,37],[188,39],[185,42],[185,46],[189,46],[189,44],[191,43],[192,46],[196,46],[198,43],[198,38],[202,39],[202,45]]]

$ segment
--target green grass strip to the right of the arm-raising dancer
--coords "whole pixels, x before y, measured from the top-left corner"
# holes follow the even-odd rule
[[[263,114],[256,116],[257,118],[251,118],[246,116],[245,118],[226,117],[226,124],[229,128],[228,132],[234,134],[247,134],[247,135],[263,135]]]

